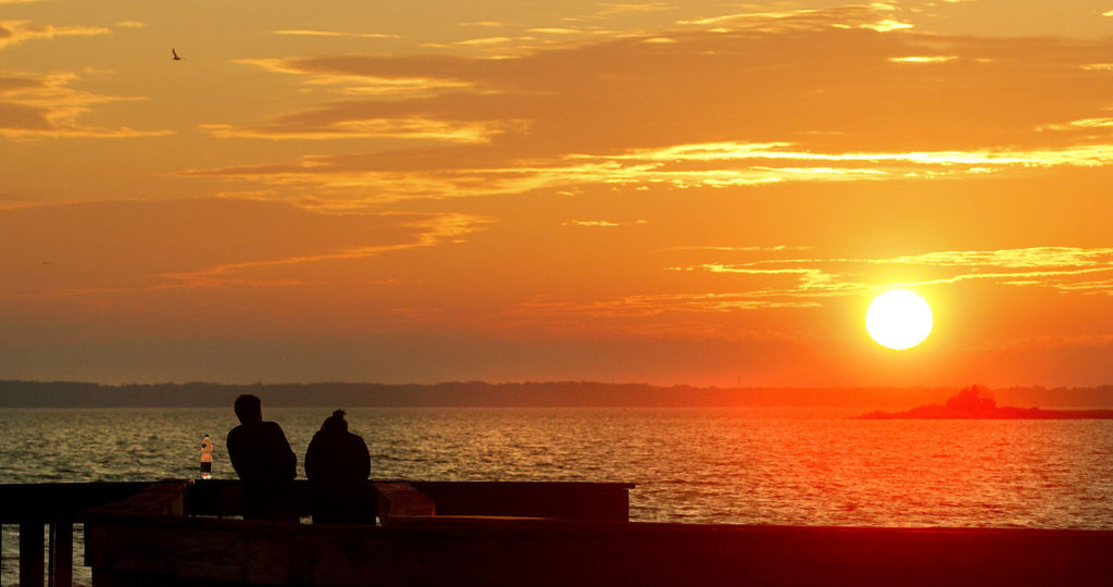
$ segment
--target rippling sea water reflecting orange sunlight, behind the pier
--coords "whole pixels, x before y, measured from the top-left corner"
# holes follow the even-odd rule
[[[637,483],[640,521],[1113,529],[1111,420],[867,410],[352,409],[373,478]],[[331,409],[267,409],[301,461]],[[0,482],[234,479],[228,409],[0,410]],[[14,528],[3,583],[16,580]],[[80,561],[81,549],[76,558]],[[80,569],[78,577],[82,577]]]

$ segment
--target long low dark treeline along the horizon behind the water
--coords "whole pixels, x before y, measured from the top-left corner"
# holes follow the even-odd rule
[[[0,380],[0,408],[230,407],[242,393],[254,393],[272,408],[910,408],[942,403],[957,391],[955,388],[698,388],[589,381],[104,385]],[[1113,385],[989,391],[1001,405],[1113,408]]]

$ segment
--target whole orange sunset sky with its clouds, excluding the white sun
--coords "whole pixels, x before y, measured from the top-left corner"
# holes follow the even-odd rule
[[[0,379],[1113,383],[1111,189],[1113,0],[0,0]]]

